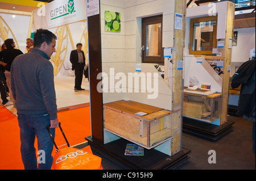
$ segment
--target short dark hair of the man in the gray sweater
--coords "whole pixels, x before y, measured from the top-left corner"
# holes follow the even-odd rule
[[[36,30],[34,35],[34,48],[40,48],[44,41],[49,45],[52,43],[52,39],[57,40],[57,36],[51,31],[40,28]]]

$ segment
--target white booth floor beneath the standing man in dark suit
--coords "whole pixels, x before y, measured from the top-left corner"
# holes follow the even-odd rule
[[[87,78],[85,79],[84,77],[82,80],[81,87],[85,89],[84,91],[74,91],[75,77],[56,76],[54,82],[57,108],[59,111],[72,110],[90,105],[89,82]],[[13,105],[6,106],[6,108],[16,115],[17,111]]]

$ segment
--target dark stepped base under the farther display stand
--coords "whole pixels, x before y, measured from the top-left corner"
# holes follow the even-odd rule
[[[218,140],[218,138],[231,132],[232,124],[234,124],[234,122],[226,121],[226,123],[222,125],[214,125],[183,117],[184,132],[196,134],[211,140]]]

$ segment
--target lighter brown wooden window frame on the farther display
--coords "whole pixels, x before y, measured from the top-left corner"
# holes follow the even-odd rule
[[[212,55],[212,50],[193,50],[193,24],[199,22],[208,22],[216,20],[216,26],[213,26],[213,43],[212,48],[217,48],[217,22],[218,16],[206,16],[202,18],[193,18],[190,20],[190,32],[189,32],[189,42],[191,42],[189,46],[189,54],[205,54],[205,55]]]

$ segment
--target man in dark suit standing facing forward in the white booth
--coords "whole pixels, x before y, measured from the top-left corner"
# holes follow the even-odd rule
[[[76,44],[76,49],[71,51],[69,60],[72,63],[72,70],[75,70],[75,91],[84,90],[81,88],[82,74],[84,73],[85,56],[82,51],[82,44]]]

